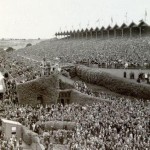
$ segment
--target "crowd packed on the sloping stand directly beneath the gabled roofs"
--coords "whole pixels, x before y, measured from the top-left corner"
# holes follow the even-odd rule
[[[62,62],[98,64],[104,68],[149,68],[150,39],[111,38],[43,41],[17,54],[41,60],[60,57]]]

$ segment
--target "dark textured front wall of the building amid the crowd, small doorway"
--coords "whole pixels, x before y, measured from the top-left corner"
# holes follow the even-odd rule
[[[37,97],[42,96],[43,104],[56,103],[59,96],[59,79],[57,75],[42,77],[17,85],[20,104],[36,105]]]

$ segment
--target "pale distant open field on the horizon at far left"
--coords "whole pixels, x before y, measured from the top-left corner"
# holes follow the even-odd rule
[[[27,39],[27,40],[0,40],[0,48],[7,49],[8,47],[12,47],[14,49],[20,49],[26,47],[28,43],[35,45],[42,40],[38,39]]]

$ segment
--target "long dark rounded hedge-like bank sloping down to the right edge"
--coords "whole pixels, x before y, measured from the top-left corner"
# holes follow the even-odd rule
[[[134,83],[82,65],[77,66],[76,71],[77,76],[82,80],[103,86],[113,92],[143,99],[149,99],[150,97],[150,87],[147,85]]]

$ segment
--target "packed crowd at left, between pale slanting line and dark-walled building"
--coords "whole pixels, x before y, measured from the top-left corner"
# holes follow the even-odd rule
[[[14,78],[17,83],[24,83],[41,76],[39,64],[19,57],[7,57],[1,66]]]

